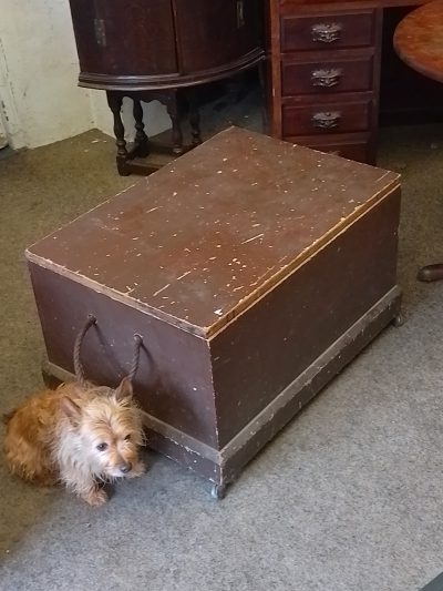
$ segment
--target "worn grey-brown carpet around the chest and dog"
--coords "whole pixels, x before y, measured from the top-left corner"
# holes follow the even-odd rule
[[[23,249],[134,183],[89,132],[0,161],[0,411],[41,385]],[[245,470],[222,502],[173,462],[91,510],[0,460],[2,591],[409,591],[443,571],[443,128],[384,130],[403,174],[400,282],[388,328]]]

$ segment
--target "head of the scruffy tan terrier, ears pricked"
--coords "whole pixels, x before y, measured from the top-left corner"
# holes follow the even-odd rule
[[[102,479],[131,476],[143,444],[143,429],[128,378],[116,389],[91,387],[78,398],[65,396],[61,408],[80,448],[76,454],[82,457],[78,461],[87,463]]]

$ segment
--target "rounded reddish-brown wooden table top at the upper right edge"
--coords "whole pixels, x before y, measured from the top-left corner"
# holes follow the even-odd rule
[[[443,0],[410,12],[396,27],[394,48],[413,70],[443,82]]]

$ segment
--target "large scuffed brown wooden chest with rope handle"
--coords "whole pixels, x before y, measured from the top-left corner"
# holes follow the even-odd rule
[[[215,483],[399,314],[399,176],[229,129],[27,251],[50,373],[135,391],[150,445]]]

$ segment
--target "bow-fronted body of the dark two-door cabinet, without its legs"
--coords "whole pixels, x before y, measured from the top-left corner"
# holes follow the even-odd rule
[[[200,84],[264,57],[262,0],[70,0],[80,84]]]

